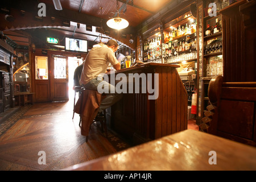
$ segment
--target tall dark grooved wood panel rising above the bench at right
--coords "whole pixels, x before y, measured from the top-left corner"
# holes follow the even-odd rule
[[[255,81],[255,27],[246,28],[238,1],[222,9],[224,81]]]

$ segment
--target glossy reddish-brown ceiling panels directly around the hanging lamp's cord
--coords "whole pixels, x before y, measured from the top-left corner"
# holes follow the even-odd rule
[[[52,0],[41,0],[47,4],[53,5]],[[118,7],[124,6],[123,2],[127,2],[126,10],[123,7],[121,13],[125,11],[125,14],[121,14],[122,18],[128,20],[131,27],[138,26],[150,16],[157,13],[162,9],[170,0],[60,0],[63,9],[72,10],[81,14],[88,14],[97,16],[98,18],[104,18],[108,20],[117,11]],[[102,7],[102,12],[100,7]]]

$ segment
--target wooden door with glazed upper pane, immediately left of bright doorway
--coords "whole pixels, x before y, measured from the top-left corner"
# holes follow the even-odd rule
[[[50,71],[51,101],[68,101],[68,59],[52,57]]]

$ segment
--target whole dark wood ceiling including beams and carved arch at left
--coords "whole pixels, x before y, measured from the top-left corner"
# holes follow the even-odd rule
[[[161,10],[173,8],[171,3],[175,2],[177,5],[184,1],[187,0],[60,0],[63,10],[59,11],[55,9],[53,0],[6,0],[1,1],[1,7],[11,9],[10,14],[14,15],[14,21],[7,22],[4,20],[4,15],[0,14],[1,21],[3,19],[0,28],[15,44],[21,46],[28,45],[28,39],[24,35],[19,35],[19,32],[13,33],[11,31],[21,30],[34,36],[39,36],[39,34],[50,36],[49,32],[51,31],[51,35],[59,35],[60,39],[64,36],[72,36],[96,42],[100,35],[99,32],[88,31],[82,26],[78,28],[76,23],[102,27],[104,30],[102,37],[105,39],[113,38],[114,30],[110,30],[111,28],[106,26],[106,21],[116,16],[115,13],[118,9],[121,18],[128,20],[129,27],[118,33],[115,32],[114,36],[118,34],[118,38],[115,39],[118,40],[119,37],[126,34],[127,38],[119,39],[120,43],[131,48],[134,46],[129,43],[130,36],[133,35],[134,39],[138,29],[148,24],[148,19],[154,20],[155,16],[162,14]],[[36,21],[34,16],[38,14],[40,2],[46,4],[47,15],[42,21]],[[21,16],[20,10],[24,10],[25,15]],[[51,17],[55,17],[55,21],[52,21]],[[61,20],[71,21],[71,25],[63,26]],[[108,30],[110,35],[105,34]]]

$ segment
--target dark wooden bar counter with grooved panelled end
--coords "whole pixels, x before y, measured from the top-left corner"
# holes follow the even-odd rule
[[[110,79],[119,73],[127,77],[130,74],[144,73],[147,84],[151,82],[148,81],[151,77],[151,88],[154,89],[157,84],[159,88],[156,99],[148,99],[148,96],[152,96],[152,92],[148,90],[146,93],[123,93],[122,100],[106,110],[108,127],[131,140],[133,144],[141,144],[186,130],[188,95],[176,68],[179,68],[179,65],[146,63],[108,73]],[[158,75],[155,81],[154,75]],[[133,85],[134,89],[135,79],[130,82],[129,78],[126,80],[127,88]],[[117,84],[118,81],[115,82]],[[139,82],[141,90],[142,82]]]

